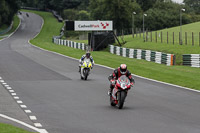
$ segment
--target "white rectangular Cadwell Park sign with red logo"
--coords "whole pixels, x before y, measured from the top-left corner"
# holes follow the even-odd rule
[[[75,31],[111,31],[112,21],[75,21]]]

